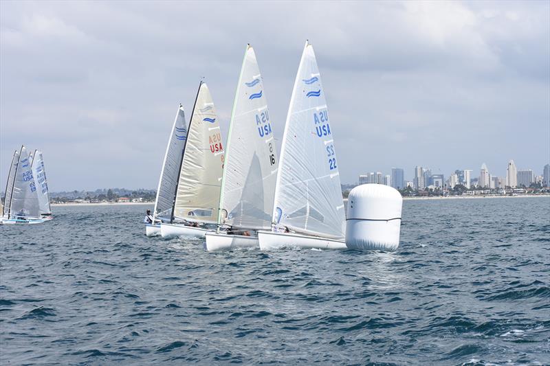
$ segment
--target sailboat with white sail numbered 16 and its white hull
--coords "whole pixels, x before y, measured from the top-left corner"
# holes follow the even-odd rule
[[[261,73],[247,45],[225,146],[218,228],[206,233],[208,251],[258,246],[256,231],[271,228],[277,167]]]

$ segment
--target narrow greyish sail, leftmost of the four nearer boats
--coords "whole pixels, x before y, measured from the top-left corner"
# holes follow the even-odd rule
[[[185,121],[184,107],[180,105],[177,109],[174,126],[170,133],[170,139],[168,139],[166,155],[164,155],[164,163],[162,163],[162,171],[160,172],[157,199],[155,201],[155,211],[153,214],[155,218],[171,220],[177,179],[179,176],[179,166],[181,164],[181,157],[184,153],[186,139],[187,124]]]

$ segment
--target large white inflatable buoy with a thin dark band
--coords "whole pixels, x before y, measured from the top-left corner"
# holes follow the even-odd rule
[[[349,249],[395,251],[399,247],[403,198],[388,185],[364,184],[349,192],[346,245]]]

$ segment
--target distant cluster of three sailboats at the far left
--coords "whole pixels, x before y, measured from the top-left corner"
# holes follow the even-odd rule
[[[2,224],[38,224],[52,220],[42,152],[15,151],[5,187]]]

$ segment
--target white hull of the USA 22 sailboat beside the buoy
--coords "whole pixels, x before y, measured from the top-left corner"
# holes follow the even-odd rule
[[[283,247],[298,247],[306,249],[347,249],[342,240],[305,236],[296,233],[274,233],[273,231],[258,231],[260,249],[272,250]]]

